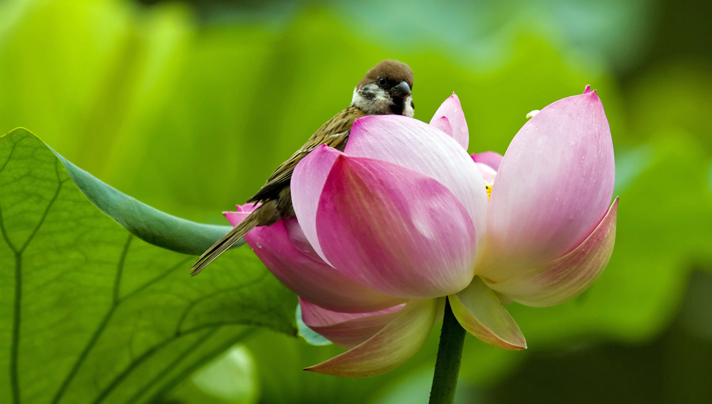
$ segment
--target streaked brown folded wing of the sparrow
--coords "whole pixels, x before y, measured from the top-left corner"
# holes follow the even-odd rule
[[[289,185],[292,179],[294,167],[306,155],[320,145],[328,145],[339,150],[343,150],[348,140],[351,127],[357,118],[366,115],[362,110],[356,107],[349,107],[342,110],[340,113],[331,118],[327,123],[321,126],[307,142],[294,152],[285,162],[283,162],[277,170],[274,170],[272,175],[267,180],[266,184],[260,188],[257,193],[247,202],[259,202],[263,200],[273,200],[279,196],[279,192]]]

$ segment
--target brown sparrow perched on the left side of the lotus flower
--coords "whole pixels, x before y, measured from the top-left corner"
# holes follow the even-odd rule
[[[270,175],[247,203],[261,204],[240,224],[207,249],[190,268],[200,273],[208,264],[257,226],[270,226],[294,216],[290,180],[298,162],[320,145],[343,151],[354,122],[365,115],[405,115],[413,118],[413,71],[406,63],[385,60],[370,68],[353,90],[351,104],[322,125],[306,143]]]

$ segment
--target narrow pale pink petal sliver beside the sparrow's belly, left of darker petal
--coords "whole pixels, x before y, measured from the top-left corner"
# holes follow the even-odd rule
[[[340,154],[327,145],[316,147],[298,162],[290,182],[292,205],[300,227],[316,254],[327,263],[329,261],[324,257],[316,235],[316,209],[326,177]]]

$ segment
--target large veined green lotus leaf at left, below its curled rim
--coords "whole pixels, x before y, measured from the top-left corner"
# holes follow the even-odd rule
[[[4,403],[145,402],[255,326],[296,333],[248,249],[191,278],[195,257],[126,232],[26,130],[0,138],[0,230]]]

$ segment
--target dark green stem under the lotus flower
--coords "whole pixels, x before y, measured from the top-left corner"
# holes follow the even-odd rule
[[[446,300],[438,358],[435,361],[435,375],[430,389],[430,404],[454,403],[464,342],[465,328],[462,328],[452,314],[450,301]]]

